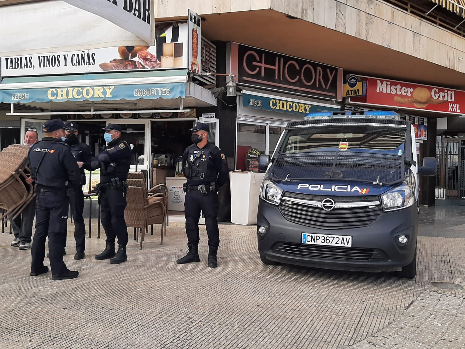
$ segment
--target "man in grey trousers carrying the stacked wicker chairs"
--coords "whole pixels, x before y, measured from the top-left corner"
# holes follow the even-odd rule
[[[39,140],[39,134],[35,129],[28,129],[24,137],[24,145],[32,147]],[[29,175],[28,172],[25,173]],[[27,184],[33,184],[33,180],[29,175],[24,180]],[[14,240],[11,246],[19,246],[20,250],[28,249],[31,246],[32,225],[35,216],[35,197],[29,201],[27,206],[21,211],[21,214],[11,220],[13,228]]]

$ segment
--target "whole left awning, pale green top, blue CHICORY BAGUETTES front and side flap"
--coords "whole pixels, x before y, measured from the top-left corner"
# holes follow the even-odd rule
[[[5,78],[0,83],[0,102],[41,104],[41,107],[56,110],[79,109],[76,103],[66,102],[184,100],[190,97],[198,100],[200,106],[216,105],[213,94],[187,80],[187,70]]]

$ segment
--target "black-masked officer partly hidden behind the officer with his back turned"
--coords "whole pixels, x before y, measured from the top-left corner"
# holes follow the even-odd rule
[[[90,148],[85,143],[78,141],[78,125],[74,121],[66,123],[66,143],[71,147],[76,161],[89,163],[92,160]],[[86,168],[88,169],[88,168]],[[80,169],[80,185],[70,188],[69,204],[74,219],[74,240],[76,240],[76,254],[74,259],[83,259],[86,250],[86,225],[84,224],[84,193],[82,186],[86,184],[84,168]]]

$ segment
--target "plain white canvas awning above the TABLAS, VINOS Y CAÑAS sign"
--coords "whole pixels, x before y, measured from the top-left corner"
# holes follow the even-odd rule
[[[146,45],[109,20],[60,0],[2,6],[0,38],[0,57]]]

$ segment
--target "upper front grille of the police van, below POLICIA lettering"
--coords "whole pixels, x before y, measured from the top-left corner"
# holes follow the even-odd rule
[[[299,202],[286,201],[286,197],[294,197],[293,193],[284,193],[279,209],[287,221],[305,225],[307,227],[319,229],[350,229],[361,228],[373,224],[378,220],[379,216],[383,213],[381,205],[376,206],[360,206],[354,208],[334,208],[331,211],[326,211],[321,207],[305,203],[305,201],[319,201],[321,202],[320,195],[303,195],[299,194]],[[303,199],[305,197],[305,199]],[[347,203],[347,197],[340,200],[337,196],[326,196],[331,198],[335,203]],[[363,204],[359,201],[360,197],[354,198],[353,202]],[[377,196],[364,197],[367,201],[377,201]],[[339,201],[338,201],[339,200]]]

